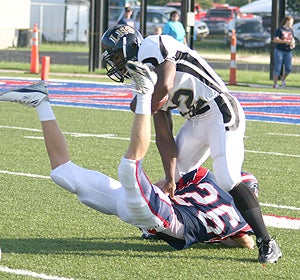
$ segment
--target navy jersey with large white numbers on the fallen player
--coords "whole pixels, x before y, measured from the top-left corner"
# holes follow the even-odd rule
[[[242,232],[252,232],[233,203],[232,197],[215,184],[204,168],[191,171],[177,184],[173,208],[184,224],[185,240],[158,236],[175,249],[185,249],[196,242],[217,242]]]

